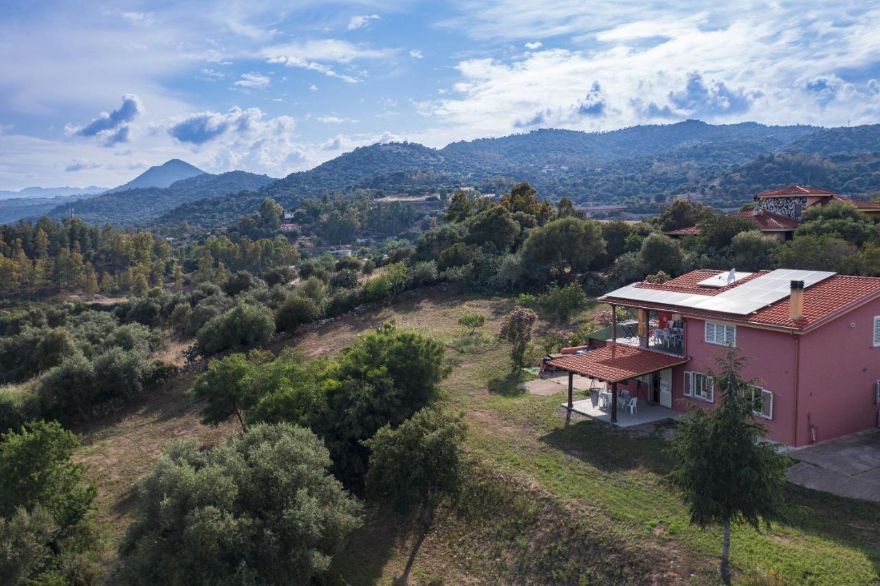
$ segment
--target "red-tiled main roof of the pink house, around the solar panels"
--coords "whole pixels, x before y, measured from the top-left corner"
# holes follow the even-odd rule
[[[717,295],[722,291],[732,289],[738,285],[751,281],[759,275],[765,275],[768,271],[759,271],[742,280],[733,282],[720,289],[701,289],[696,283],[720,271],[699,270],[676,279],[664,282],[661,285],[654,283],[639,283],[641,289],[663,289],[685,293],[701,293],[702,295]],[[854,305],[862,304],[871,298],[880,298],[880,277],[863,277],[852,275],[833,275],[803,290],[803,318],[794,321],[788,318],[788,297],[769,304],[766,307],[753,311],[748,315],[723,313],[721,311],[705,311],[678,305],[658,304],[647,301],[633,301],[620,297],[602,297],[602,301],[612,304],[639,306],[659,311],[676,311],[693,315],[694,317],[723,319],[727,321],[742,321],[766,326],[790,327],[798,330],[806,330],[817,326],[826,319],[847,311]]]

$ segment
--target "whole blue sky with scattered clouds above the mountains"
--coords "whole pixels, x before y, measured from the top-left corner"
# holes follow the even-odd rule
[[[281,177],[534,128],[880,121],[880,4],[711,4],[0,3],[0,189],[171,157]]]

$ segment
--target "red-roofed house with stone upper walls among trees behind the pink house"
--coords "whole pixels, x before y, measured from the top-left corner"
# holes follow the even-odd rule
[[[738,211],[729,216],[751,220],[758,225],[759,231],[780,240],[788,240],[792,237],[797,227],[801,225],[803,209],[810,206],[825,205],[831,201],[847,201],[853,204],[855,209],[861,211],[862,214],[869,217],[880,216],[880,202],[854,200],[835,194],[832,191],[826,191],[825,189],[800,185],[791,185],[761,192],[755,195],[752,209]],[[695,236],[700,234],[700,224],[664,233],[672,238]]]

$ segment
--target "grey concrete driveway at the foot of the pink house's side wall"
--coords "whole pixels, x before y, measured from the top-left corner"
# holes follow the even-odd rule
[[[880,429],[788,452],[798,460],[788,480],[832,494],[880,502]]]

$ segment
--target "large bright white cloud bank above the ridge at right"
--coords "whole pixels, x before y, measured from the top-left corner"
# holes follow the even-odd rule
[[[475,39],[570,33],[581,35],[580,46],[459,61],[450,92],[417,104],[418,111],[438,125],[436,136],[450,138],[518,128],[620,128],[686,116],[822,126],[876,121],[869,95],[875,86],[857,87],[832,71],[876,70],[880,35],[870,31],[880,26],[880,9],[832,26],[840,15],[831,10],[774,4],[673,19],[673,11],[640,13],[635,4],[622,3],[618,15],[566,0],[546,13],[539,11],[543,4],[515,11],[503,0],[473,2],[473,27],[466,31]],[[595,26],[577,26],[587,17]],[[600,98],[590,95],[594,82]]]

